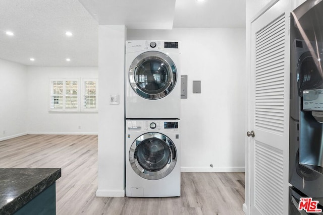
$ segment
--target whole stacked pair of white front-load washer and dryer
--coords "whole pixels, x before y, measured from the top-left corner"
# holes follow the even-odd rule
[[[180,42],[126,41],[126,195],[180,196]]]

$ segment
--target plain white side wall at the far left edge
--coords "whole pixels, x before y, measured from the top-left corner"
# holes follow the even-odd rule
[[[26,66],[0,59],[0,141],[27,131],[26,79]]]

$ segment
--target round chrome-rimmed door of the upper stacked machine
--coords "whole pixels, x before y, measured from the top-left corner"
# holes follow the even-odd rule
[[[145,99],[160,99],[175,87],[177,70],[172,59],[158,51],[147,51],[131,63],[129,81],[132,89]]]

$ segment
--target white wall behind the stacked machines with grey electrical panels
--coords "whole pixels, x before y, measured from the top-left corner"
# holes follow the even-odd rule
[[[181,41],[189,92],[181,100],[181,170],[244,171],[245,29],[127,31],[127,40],[145,39]],[[201,94],[192,93],[193,80]]]

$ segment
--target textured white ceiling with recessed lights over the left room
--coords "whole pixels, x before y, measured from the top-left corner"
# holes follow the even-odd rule
[[[8,30],[15,35],[6,35]],[[73,36],[67,37],[66,31]],[[25,65],[96,66],[97,32],[97,22],[77,0],[0,1],[0,58],[5,60]]]

